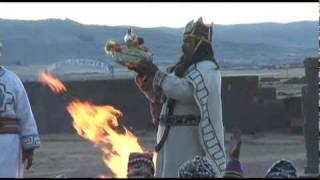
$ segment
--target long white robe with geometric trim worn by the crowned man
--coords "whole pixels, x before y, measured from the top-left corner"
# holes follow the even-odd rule
[[[153,81],[154,88],[161,88],[169,99],[180,99],[181,102],[177,101],[177,103],[181,105],[183,101],[195,101],[190,105],[198,107],[201,116],[198,127],[171,127],[168,138],[158,153],[156,177],[177,177],[181,164],[194,158],[195,155],[204,155],[207,158],[215,172],[215,177],[223,176],[227,162],[222,121],[221,73],[215,68],[213,62],[206,60],[190,66],[183,78],[173,73],[167,74],[161,71],[156,73]],[[168,112],[167,105],[166,101],[160,117]],[[179,115],[189,113],[186,110]],[[195,114],[198,115],[198,113]],[[165,129],[166,126],[159,124],[157,143],[160,143],[164,137]],[[186,142],[185,139],[188,141]]]

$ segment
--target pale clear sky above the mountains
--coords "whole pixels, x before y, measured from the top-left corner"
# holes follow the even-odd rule
[[[202,17],[205,23],[288,23],[319,20],[319,3],[0,3],[1,19],[72,19],[82,24],[184,27]]]

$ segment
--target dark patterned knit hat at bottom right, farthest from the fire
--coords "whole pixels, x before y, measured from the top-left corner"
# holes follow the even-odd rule
[[[296,178],[296,168],[288,160],[279,160],[272,164],[265,178]]]

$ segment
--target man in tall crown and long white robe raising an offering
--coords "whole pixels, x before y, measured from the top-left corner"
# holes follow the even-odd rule
[[[156,177],[178,177],[179,167],[196,156],[206,158],[216,177],[226,168],[221,105],[221,74],[211,45],[212,23],[190,21],[183,55],[168,72],[141,61],[136,84],[148,98],[158,127]]]

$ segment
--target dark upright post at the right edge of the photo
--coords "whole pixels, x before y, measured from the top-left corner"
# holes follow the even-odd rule
[[[319,68],[317,58],[304,61],[306,86],[302,88],[302,110],[304,114],[304,138],[307,163],[305,174],[319,174]]]

